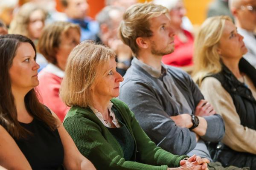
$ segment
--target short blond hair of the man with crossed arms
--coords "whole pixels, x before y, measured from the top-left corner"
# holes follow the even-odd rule
[[[129,7],[123,15],[119,26],[119,36],[128,45],[134,56],[137,56],[139,47],[136,43],[138,37],[151,37],[150,19],[168,14],[168,9],[154,3],[137,3]]]

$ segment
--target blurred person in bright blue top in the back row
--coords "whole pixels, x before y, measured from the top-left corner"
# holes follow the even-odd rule
[[[99,33],[99,24],[86,16],[88,11],[87,0],[61,0],[68,21],[79,24],[81,28],[81,41],[96,40]]]

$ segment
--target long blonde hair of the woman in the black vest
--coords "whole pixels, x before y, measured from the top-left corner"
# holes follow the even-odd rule
[[[207,18],[195,37],[192,77],[199,86],[205,76],[221,71],[221,58],[217,49],[227,20],[232,22],[228,16]]]

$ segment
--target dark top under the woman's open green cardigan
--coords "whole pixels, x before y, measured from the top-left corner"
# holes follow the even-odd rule
[[[126,125],[123,123],[124,120],[122,119],[122,116],[120,115],[119,111],[114,107],[112,107],[111,110],[114,112],[116,119],[118,120],[121,127],[118,127],[118,128],[107,127],[107,128],[110,131],[110,133],[116,138],[120,146],[122,147],[125,161],[129,161],[133,158],[133,153],[135,149],[134,139],[131,136],[131,133],[126,127]]]

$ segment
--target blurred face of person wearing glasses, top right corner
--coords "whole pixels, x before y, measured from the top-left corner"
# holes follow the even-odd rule
[[[256,29],[256,0],[241,0],[235,14],[241,27],[250,31]]]

